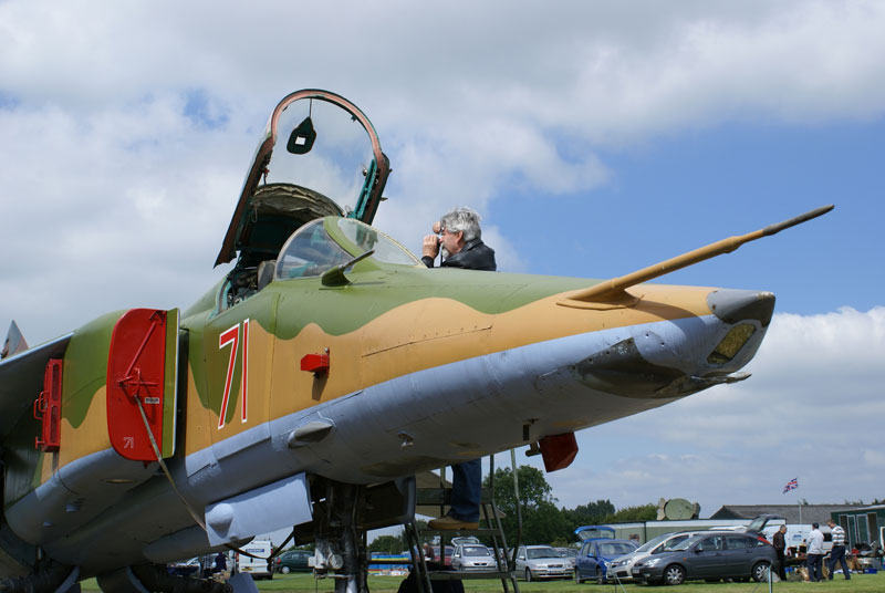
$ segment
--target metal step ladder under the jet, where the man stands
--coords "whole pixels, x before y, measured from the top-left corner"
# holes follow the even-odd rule
[[[467,580],[500,580],[504,593],[519,593],[519,584],[516,576],[516,550],[519,541],[513,542],[513,554],[507,555],[507,541],[504,539],[503,527],[501,526],[501,513],[494,504],[494,456],[490,456],[489,464],[489,488],[482,488],[480,498],[480,529],[464,530],[431,530],[419,529],[417,523],[405,524],[406,542],[412,554],[412,570],[415,571],[416,582],[419,593],[433,593],[434,581],[467,581]],[[440,470],[440,481],[445,483],[445,468]],[[516,485],[514,485],[516,486]],[[433,506],[439,508],[439,516],[445,514],[451,488],[418,488],[416,492],[417,506]],[[519,504],[519,496],[516,497]],[[485,523],[485,527],[482,527]],[[491,540],[491,553],[496,562],[493,571],[455,571],[455,570],[434,570],[434,564],[429,564],[425,559],[423,543],[428,539],[439,540],[439,564],[445,566],[446,543],[455,538],[472,535],[483,541]],[[519,539],[519,531],[517,538]]]

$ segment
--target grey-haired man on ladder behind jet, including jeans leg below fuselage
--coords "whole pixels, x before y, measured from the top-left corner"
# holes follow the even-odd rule
[[[494,250],[482,242],[480,218],[470,208],[455,208],[433,226],[421,245],[421,261],[433,268],[442,251],[440,268],[466,270],[498,269]],[[482,496],[482,466],[472,459],[451,467],[451,500],[449,512],[427,523],[429,529],[456,530],[479,527],[479,503]]]

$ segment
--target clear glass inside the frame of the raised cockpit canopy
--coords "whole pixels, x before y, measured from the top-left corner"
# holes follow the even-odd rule
[[[266,183],[306,187],[345,216],[353,211],[374,170],[372,141],[360,121],[326,101],[302,98],[280,114],[277,129]]]

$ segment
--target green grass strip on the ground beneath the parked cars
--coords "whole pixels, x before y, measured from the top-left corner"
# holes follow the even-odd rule
[[[368,589],[374,593],[396,592],[402,576],[369,576]],[[277,574],[272,581],[258,581],[259,591],[281,591],[292,593],[329,593],[335,590],[331,579],[315,581],[312,574]],[[572,581],[544,581],[525,583],[520,581],[521,593],[653,593],[668,591],[670,593],[763,593],[768,591],[768,583],[704,583],[689,582],[678,586],[648,586],[648,585],[596,585],[575,584]],[[84,591],[97,591],[94,579],[83,582]],[[493,592],[503,591],[500,581],[465,581],[465,591]],[[836,575],[833,581],[823,583],[781,582],[773,583],[772,591],[778,593],[809,593],[810,591],[844,591],[852,593],[882,593],[885,591],[885,572],[877,574],[853,574],[851,581],[845,581],[842,575]]]

